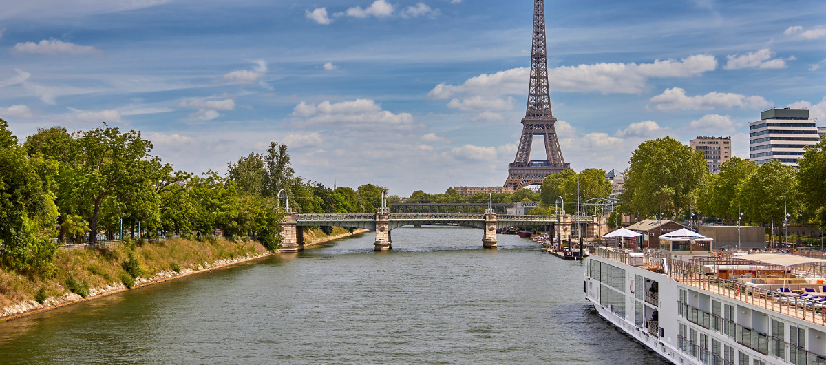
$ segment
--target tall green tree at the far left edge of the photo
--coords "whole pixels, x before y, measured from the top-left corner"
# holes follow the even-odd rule
[[[57,245],[54,164],[30,159],[0,119],[0,244],[2,263],[18,272],[50,268]]]

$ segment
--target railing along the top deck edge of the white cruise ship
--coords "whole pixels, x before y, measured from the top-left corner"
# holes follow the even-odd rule
[[[629,264],[629,253],[634,251],[599,247],[596,256],[609,258],[619,263]],[[696,287],[706,292],[726,296],[736,301],[742,301],[753,306],[765,308],[791,317],[806,320],[815,325],[826,325],[826,302],[814,301],[790,296],[781,292],[751,287],[733,280],[723,279],[712,274],[703,273],[703,265],[708,264],[705,258],[689,261],[670,258],[670,255],[660,250],[645,250],[643,252],[643,268],[671,277],[676,282]],[[717,264],[733,264],[726,258],[708,258],[718,261]],[[667,271],[663,268],[662,260],[668,265]],[[814,285],[814,284],[813,284]],[[824,284],[819,284],[824,285]]]

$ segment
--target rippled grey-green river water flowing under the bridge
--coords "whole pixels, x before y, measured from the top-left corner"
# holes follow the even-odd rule
[[[0,323],[0,363],[662,363],[583,265],[459,227],[372,232]]]

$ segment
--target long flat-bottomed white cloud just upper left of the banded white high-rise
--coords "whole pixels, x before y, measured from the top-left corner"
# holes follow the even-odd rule
[[[747,97],[730,92],[709,92],[694,97],[686,96],[682,88],[667,88],[649,101],[658,111],[705,110],[705,109],[760,109],[771,107],[771,102],[760,96]],[[650,108],[651,106],[649,106]]]

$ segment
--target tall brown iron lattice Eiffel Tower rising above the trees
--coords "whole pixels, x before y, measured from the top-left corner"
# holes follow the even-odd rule
[[[528,108],[522,118],[522,137],[516,149],[514,162],[508,164],[508,178],[505,187],[517,189],[541,184],[544,178],[558,173],[571,164],[566,164],[563,151],[559,149],[557,130],[553,126],[557,118],[551,112],[551,97],[548,90],[548,54],[545,44],[545,3],[534,0],[534,37],[530,56],[530,85],[528,88]],[[545,154],[548,159],[530,160],[530,148],[534,135],[542,135]]]

